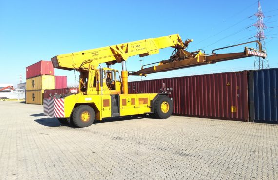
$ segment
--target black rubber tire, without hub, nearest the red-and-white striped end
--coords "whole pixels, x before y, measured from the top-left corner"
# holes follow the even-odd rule
[[[86,122],[81,120],[81,114],[84,111],[87,111],[90,114],[90,119]],[[73,114],[72,114],[72,122],[75,126],[80,127],[80,128],[89,127],[92,125],[92,123],[94,121],[95,121],[95,111],[89,105],[80,105],[74,109]]]

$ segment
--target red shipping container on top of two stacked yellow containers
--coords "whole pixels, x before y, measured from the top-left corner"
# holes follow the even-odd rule
[[[54,68],[51,61],[39,61],[26,67],[26,79],[40,75],[54,75]]]

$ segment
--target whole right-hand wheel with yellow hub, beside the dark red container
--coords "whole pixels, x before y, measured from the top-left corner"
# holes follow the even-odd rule
[[[159,96],[154,103],[154,115],[159,119],[166,119],[173,112],[173,103],[168,96]]]

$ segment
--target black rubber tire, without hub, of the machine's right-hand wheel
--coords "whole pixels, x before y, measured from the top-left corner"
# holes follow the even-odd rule
[[[169,104],[169,110],[166,113],[164,113],[161,110],[161,104],[164,101],[166,101]],[[166,118],[171,116],[172,112],[173,112],[173,103],[172,103],[171,99],[166,95],[160,95],[156,99],[156,101],[154,102],[154,115],[155,115],[155,117],[159,118],[159,119],[166,119]]]

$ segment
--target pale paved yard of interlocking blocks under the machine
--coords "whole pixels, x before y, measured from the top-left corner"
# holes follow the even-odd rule
[[[0,101],[0,179],[278,179],[278,125],[172,116],[61,126]]]

